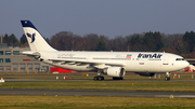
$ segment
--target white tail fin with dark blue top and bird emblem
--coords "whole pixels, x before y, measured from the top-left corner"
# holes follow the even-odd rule
[[[30,21],[21,21],[31,51],[56,51],[42,38]]]

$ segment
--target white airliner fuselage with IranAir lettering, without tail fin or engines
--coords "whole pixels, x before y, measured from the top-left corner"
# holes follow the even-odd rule
[[[77,71],[90,71],[110,66],[121,66],[126,71],[132,72],[169,72],[188,66],[188,63],[183,57],[162,52],[55,51],[39,53],[40,59],[43,63]]]

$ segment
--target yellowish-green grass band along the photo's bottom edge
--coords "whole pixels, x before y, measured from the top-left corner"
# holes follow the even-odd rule
[[[195,98],[0,96],[0,109],[194,109]]]

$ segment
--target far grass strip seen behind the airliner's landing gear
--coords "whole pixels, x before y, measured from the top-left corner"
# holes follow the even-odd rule
[[[89,73],[89,77],[82,77],[86,74],[84,72],[77,72],[77,73],[0,73],[0,78],[4,79],[63,79],[64,77],[68,77],[68,79],[89,79],[92,80],[96,72]],[[103,74],[104,76],[104,74]],[[112,80],[112,77],[104,76],[106,80]],[[130,73],[123,77],[125,80],[165,80],[165,73],[156,73],[155,77],[142,77],[139,74]],[[170,76],[173,80],[195,80],[195,72],[178,72],[177,78],[174,79],[174,73]],[[193,78],[192,78],[193,77]]]

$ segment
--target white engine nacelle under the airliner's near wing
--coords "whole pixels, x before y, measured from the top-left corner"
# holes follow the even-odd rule
[[[103,72],[110,77],[122,78],[126,74],[126,71],[121,67],[108,67],[103,69]]]

